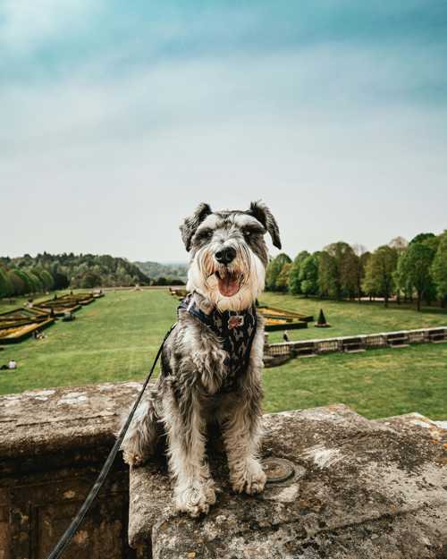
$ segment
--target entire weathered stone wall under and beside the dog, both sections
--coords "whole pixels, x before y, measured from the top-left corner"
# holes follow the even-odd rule
[[[46,559],[139,387],[0,397],[0,559]],[[264,426],[263,460],[291,475],[262,495],[232,493],[215,445],[217,503],[203,519],[175,516],[163,457],[130,479],[120,457],[64,559],[446,559],[443,422],[371,421],[333,405],[268,414]]]

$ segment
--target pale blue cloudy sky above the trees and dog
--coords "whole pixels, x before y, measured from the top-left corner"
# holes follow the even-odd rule
[[[444,0],[0,0],[0,255],[181,261],[253,199],[292,258],[447,228]]]

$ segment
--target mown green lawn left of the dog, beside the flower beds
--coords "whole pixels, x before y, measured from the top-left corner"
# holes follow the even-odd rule
[[[46,328],[45,340],[3,346],[0,363],[13,357],[19,367],[0,371],[0,394],[144,377],[176,307],[165,291],[107,292],[73,322]]]

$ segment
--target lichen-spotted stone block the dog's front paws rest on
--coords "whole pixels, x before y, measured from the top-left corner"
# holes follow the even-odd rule
[[[129,538],[139,556],[446,556],[446,431],[406,419],[368,421],[341,405],[264,422],[264,457],[293,462],[294,478],[257,497],[233,495],[224,458],[213,454],[222,492],[203,519],[173,515],[163,462],[131,470]]]

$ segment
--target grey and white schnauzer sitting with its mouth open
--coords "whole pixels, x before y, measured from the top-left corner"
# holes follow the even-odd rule
[[[257,457],[264,324],[255,301],[268,262],[264,235],[270,233],[278,248],[281,241],[263,202],[220,212],[202,203],[180,228],[190,252],[190,296],[179,307],[161,375],[139,406],[122,450],[124,460],[137,466],[165,435],[175,509],[195,517],[215,503],[206,456],[209,422],[220,426],[233,489],[254,495],[266,484]]]

